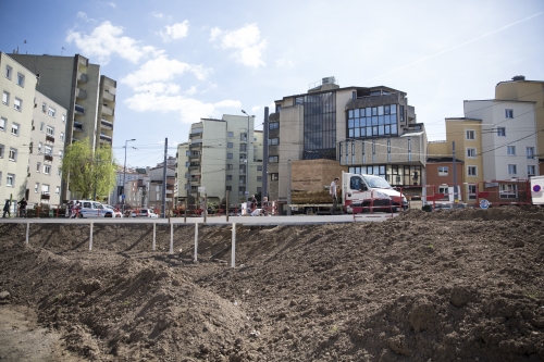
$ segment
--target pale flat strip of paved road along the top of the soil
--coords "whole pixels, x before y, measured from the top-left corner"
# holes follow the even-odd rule
[[[398,214],[358,214],[355,222],[381,222]],[[36,224],[184,224],[184,217],[168,219],[0,219],[0,223],[36,223]],[[209,216],[206,224],[248,224],[248,225],[295,225],[295,224],[326,224],[326,223],[353,223],[354,215],[319,215],[319,216]],[[187,224],[202,224],[203,217],[187,217]]]

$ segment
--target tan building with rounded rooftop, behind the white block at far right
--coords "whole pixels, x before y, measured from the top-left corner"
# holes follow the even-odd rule
[[[539,154],[539,174],[544,175],[544,80],[527,80],[517,75],[511,80],[499,82],[495,86],[496,99],[534,102],[534,120],[536,123],[536,143]]]

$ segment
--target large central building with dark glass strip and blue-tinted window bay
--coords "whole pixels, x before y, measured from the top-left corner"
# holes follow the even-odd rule
[[[379,175],[421,194],[426,133],[406,92],[385,86],[341,88],[334,77],[323,78],[306,93],[275,101],[269,137],[272,200],[287,198],[287,161],[312,159],[336,160],[350,172]]]

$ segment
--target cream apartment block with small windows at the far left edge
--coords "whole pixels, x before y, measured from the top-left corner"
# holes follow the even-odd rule
[[[0,200],[27,195],[36,76],[0,52]]]

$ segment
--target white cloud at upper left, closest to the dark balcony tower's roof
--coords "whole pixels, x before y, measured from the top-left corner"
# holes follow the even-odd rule
[[[87,57],[97,57],[98,62],[108,64],[112,54],[137,63],[141,58],[150,54],[160,55],[163,51],[154,47],[141,47],[133,38],[123,37],[123,28],[114,26],[110,22],[103,22],[97,26],[90,35],[70,30],[66,41],[74,41],[76,47],[85,52]]]

